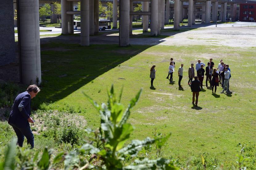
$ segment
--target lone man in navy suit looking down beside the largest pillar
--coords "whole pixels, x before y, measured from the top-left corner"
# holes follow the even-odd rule
[[[8,123],[13,127],[20,147],[23,146],[24,136],[27,138],[27,144],[34,148],[34,135],[29,123],[34,123],[30,117],[31,99],[34,98],[40,89],[36,85],[30,85],[27,91],[20,93],[12,105]]]

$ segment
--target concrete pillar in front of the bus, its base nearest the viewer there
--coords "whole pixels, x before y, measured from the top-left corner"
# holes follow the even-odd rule
[[[81,8],[81,46],[89,46],[89,0],[82,0]]]

